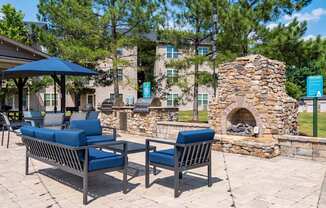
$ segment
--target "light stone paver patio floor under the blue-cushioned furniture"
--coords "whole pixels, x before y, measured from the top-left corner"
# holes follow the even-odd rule
[[[143,143],[145,138],[123,135],[119,139]],[[83,207],[81,178],[35,160],[31,160],[32,174],[24,175],[25,147],[19,142],[20,138],[12,136],[9,149],[0,147],[0,207]],[[321,190],[326,193],[321,188],[326,163],[285,157],[268,160],[221,152],[213,152],[212,158],[213,186],[206,185],[205,168],[188,172],[184,192],[175,199],[173,173],[160,170],[157,176],[151,175],[154,183],[145,189],[144,153],[132,154],[129,193],[121,192],[119,172],[92,177],[89,189],[95,198],[87,207],[224,208],[231,207],[233,201],[239,208],[315,208],[318,201],[318,207],[326,206],[323,194],[320,197]]]

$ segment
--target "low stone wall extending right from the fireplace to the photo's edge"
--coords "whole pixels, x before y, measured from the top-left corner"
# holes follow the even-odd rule
[[[283,156],[326,161],[326,138],[292,135],[276,138]]]

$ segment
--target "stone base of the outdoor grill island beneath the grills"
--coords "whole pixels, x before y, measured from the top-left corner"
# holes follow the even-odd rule
[[[156,136],[157,123],[176,121],[177,112],[178,108],[150,107],[149,113],[134,113],[132,107],[114,107],[113,112],[101,112],[99,117],[102,125],[130,134]]]

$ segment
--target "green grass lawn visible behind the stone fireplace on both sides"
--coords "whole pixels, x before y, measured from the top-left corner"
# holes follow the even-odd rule
[[[199,121],[207,122],[207,116],[207,111],[199,112]],[[191,122],[192,111],[180,111],[179,121]],[[312,136],[312,113],[300,113],[298,122],[300,134]],[[318,136],[326,137],[326,113],[318,113]]]

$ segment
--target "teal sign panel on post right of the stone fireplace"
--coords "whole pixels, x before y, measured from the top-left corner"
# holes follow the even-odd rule
[[[307,77],[307,96],[321,97],[324,95],[324,78],[321,75]]]

